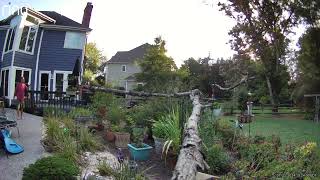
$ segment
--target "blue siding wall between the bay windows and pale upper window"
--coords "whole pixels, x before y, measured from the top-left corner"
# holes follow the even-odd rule
[[[39,71],[72,71],[82,50],[64,48],[65,31],[45,30],[39,58]]]

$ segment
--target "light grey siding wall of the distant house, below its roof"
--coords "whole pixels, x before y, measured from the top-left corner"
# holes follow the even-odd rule
[[[126,72],[122,71],[122,65],[126,65]],[[107,82],[114,86],[125,87],[126,78],[141,72],[140,67],[136,64],[108,64]],[[131,86],[130,86],[131,87]],[[129,87],[128,87],[129,88]]]

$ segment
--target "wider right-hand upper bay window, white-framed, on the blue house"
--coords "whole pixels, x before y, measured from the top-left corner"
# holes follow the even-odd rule
[[[24,26],[22,30],[19,49],[22,51],[32,53],[34,49],[36,33],[36,26]]]

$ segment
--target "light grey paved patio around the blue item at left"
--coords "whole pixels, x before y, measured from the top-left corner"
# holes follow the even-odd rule
[[[6,109],[12,117],[15,110]],[[12,128],[12,137],[24,147],[24,152],[17,155],[8,155],[3,149],[0,150],[0,180],[20,180],[23,168],[44,155],[44,149],[40,144],[42,136],[42,117],[24,113],[24,119],[18,120],[20,137],[16,128]]]

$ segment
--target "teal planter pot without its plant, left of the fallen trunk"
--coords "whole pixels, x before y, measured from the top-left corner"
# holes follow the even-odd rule
[[[134,160],[145,161],[149,159],[152,147],[144,143],[143,145],[142,148],[136,148],[133,144],[128,144],[130,155]]]

